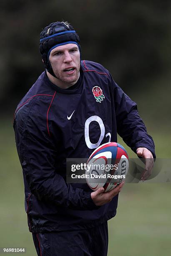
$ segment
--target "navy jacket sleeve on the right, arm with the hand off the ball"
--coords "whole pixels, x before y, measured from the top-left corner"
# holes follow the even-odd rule
[[[114,81],[113,86],[117,133],[135,153],[137,148],[145,147],[156,158],[153,138],[147,133],[136,103]]]

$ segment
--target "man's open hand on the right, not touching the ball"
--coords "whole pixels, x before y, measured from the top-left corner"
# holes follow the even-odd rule
[[[153,169],[153,164],[154,164],[153,155],[151,151],[149,151],[147,148],[137,148],[136,154],[146,159],[146,167],[144,172],[141,174],[141,180],[146,180],[148,179],[148,177],[150,177]]]

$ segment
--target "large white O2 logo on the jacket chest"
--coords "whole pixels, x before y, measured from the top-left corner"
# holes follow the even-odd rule
[[[89,125],[93,121],[96,121],[99,124],[100,128],[101,128],[100,138],[99,138],[98,142],[94,143],[94,144],[91,143],[90,137],[89,137]],[[101,142],[102,142],[102,140],[105,136],[105,126],[103,124],[102,119],[98,115],[93,115],[85,121],[84,135],[85,135],[85,143],[88,146],[88,148],[93,149],[93,148],[97,148],[98,146],[100,146],[100,144],[101,144]],[[109,136],[109,141],[108,142],[111,142],[111,133],[107,133],[106,138],[108,136]]]

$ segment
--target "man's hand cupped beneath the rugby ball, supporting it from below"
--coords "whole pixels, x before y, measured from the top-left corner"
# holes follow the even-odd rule
[[[118,193],[121,191],[123,184],[124,184],[124,182],[121,182],[117,187],[115,187],[114,189],[112,189],[111,191],[106,192],[106,193],[103,193],[104,188],[100,187],[98,190],[91,193],[91,199],[97,206],[101,206],[108,202],[111,202],[113,197],[118,195]]]

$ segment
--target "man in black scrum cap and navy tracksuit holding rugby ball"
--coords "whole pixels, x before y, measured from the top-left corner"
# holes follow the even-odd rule
[[[25,210],[38,255],[107,255],[107,220],[116,215],[123,182],[110,192],[66,183],[66,159],[88,158],[117,132],[138,156],[155,157],[154,143],[133,102],[103,66],[80,61],[73,27],[55,22],[40,34],[43,72],[15,111]],[[96,93],[95,93],[96,92]],[[103,98],[96,101],[96,94]],[[99,95],[100,95],[99,94]]]

